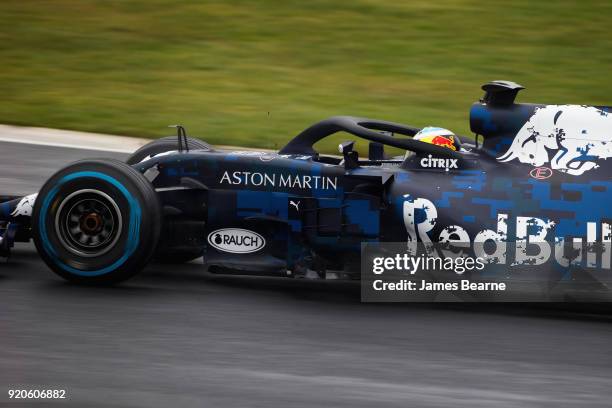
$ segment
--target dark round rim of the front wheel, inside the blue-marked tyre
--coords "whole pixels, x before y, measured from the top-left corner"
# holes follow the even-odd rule
[[[121,236],[119,206],[99,190],[79,190],[60,204],[55,230],[61,245],[73,254],[96,257],[113,249]]]

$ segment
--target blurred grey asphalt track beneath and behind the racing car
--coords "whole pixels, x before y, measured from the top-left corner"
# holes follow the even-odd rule
[[[0,143],[0,194],[100,156],[123,157]],[[0,404],[610,407],[610,323],[598,306],[361,304],[354,282],[214,276],[197,263],[84,288],[22,244],[0,264]],[[10,388],[68,399],[9,401]]]

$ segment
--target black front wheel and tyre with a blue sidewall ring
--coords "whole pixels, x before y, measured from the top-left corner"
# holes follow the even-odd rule
[[[55,173],[40,190],[32,237],[61,277],[112,284],[151,259],[161,220],[157,194],[142,174],[117,160],[83,160]]]

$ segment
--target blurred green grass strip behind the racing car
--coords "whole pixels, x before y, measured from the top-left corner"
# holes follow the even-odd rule
[[[492,79],[612,105],[611,21],[609,0],[3,0],[0,122],[266,148],[338,114],[468,134]]]

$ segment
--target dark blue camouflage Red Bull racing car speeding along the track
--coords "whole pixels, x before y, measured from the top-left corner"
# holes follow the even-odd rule
[[[610,109],[516,103],[524,88],[509,81],[482,89],[474,138],[424,141],[415,135],[425,129],[336,116],[272,153],[217,149],[179,126],[126,162],[78,161],[37,194],[0,197],[0,254],[32,239],[51,270],[93,284],[128,279],[153,258],[203,258],[213,273],[358,278],[364,242],[451,244],[508,268],[609,269]],[[340,155],[315,150],[339,132],[367,142],[367,156],[352,140]],[[528,242],[549,244],[536,254],[509,245]],[[572,257],[567,243],[607,246]]]

